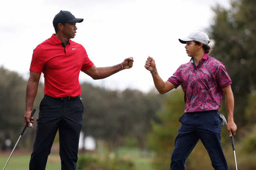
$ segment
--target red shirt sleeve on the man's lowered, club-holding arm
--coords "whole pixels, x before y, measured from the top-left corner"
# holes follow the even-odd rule
[[[42,47],[38,45],[33,51],[32,61],[29,70],[41,74],[42,70],[44,69],[44,65],[44,53]]]

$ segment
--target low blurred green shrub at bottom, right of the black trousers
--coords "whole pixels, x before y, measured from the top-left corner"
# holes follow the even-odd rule
[[[130,160],[104,159],[100,160],[91,156],[81,156],[77,162],[78,170],[136,170]]]

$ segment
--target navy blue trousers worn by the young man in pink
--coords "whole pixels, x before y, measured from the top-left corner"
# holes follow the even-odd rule
[[[199,139],[206,148],[215,170],[228,170],[221,147],[221,121],[218,110],[184,113],[172,152],[171,170],[185,170],[186,159]]]

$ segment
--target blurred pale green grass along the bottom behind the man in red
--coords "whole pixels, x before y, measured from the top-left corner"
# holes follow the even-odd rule
[[[134,162],[138,170],[151,170],[151,159],[153,154],[151,152],[144,152],[136,148],[120,148],[118,154],[121,158],[129,159]],[[80,154],[81,155],[81,154]],[[78,159],[79,156],[78,155]],[[95,155],[95,154],[94,154]],[[10,155],[0,155],[0,169],[4,168],[6,161]],[[30,154],[12,155],[5,170],[28,170],[30,161]],[[61,170],[60,155],[50,154],[46,164],[46,170]]]

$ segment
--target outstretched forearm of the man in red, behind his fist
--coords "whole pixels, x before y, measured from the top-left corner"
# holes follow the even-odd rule
[[[109,77],[112,74],[115,74],[121,70],[123,70],[121,64],[117,64],[115,66],[109,66],[109,67],[98,67],[97,74],[95,74],[92,78],[94,80],[103,79],[103,78]]]

